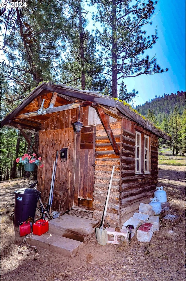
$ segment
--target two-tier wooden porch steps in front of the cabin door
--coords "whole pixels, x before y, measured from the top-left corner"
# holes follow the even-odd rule
[[[65,214],[49,221],[48,232],[33,235],[27,241],[30,245],[73,257],[99,224],[96,220]]]

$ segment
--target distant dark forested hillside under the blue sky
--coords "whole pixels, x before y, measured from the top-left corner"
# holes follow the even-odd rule
[[[138,105],[135,109],[143,116],[147,117],[149,109],[156,117],[158,124],[161,124],[164,117],[169,119],[169,116],[174,112],[177,106],[180,115],[185,109],[185,92],[177,91],[177,93],[163,94],[162,97],[157,97],[148,100],[143,105]]]

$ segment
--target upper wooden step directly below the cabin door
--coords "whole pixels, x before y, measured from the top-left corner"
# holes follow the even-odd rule
[[[96,220],[65,214],[49,221],[49,233],[84,243],[98,225]]]

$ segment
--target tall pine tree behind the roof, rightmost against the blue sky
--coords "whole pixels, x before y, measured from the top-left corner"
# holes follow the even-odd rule
[[[155,58],[150,59],[144,54],[158,39],[156,29],[151,37],[144,31],[144,26],[152,23],[156,2],[92,0],[91,3],[97,5],[93,19],[102,25],[96,30],[96,41],[101,46],[100,56],[112,79],[113,97],[117,97],[119,79],[123,82],[126,77],[164,71]]]

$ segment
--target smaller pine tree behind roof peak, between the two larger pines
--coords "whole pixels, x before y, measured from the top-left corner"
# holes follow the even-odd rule
[[[88,30],[85,30],[83,37],[84,63],[82,66],[78,33],[76,33],[76,36],[76,40],[71,42],[66,60],[60,64],[60,81],[75,88],[83,89],[82,87],[84,87],[84,89],[91,91],[109,94],[110,81],[102,74],[104,67],[101,59],[95,56],[96,42],[94,37],[90,35]],[[83,76],[82,71],[85,74]]]

